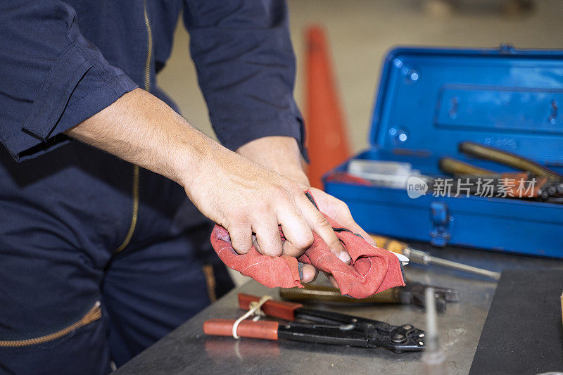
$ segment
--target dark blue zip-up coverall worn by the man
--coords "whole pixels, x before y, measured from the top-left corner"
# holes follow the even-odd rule
[[[210,302],[182,187],[63,134],[136,87],[175,108],[156,77],[182,11],[222,144],[303,144],[283,1],[0,1],[0,372],[107,373]]]

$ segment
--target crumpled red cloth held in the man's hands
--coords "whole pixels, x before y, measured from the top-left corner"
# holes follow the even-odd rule
[[[324,215],[324,213],[323,213]],[[350,265],[339,260],[317,234],[313,233],[312,246],[305,251],[299,262],[313,265],[320,271],[332,274],[343,295],[366,298],[394,286],[404,286],[403,268],[400,260],[388,250],[369,245],[361,236],[344,229],[331,217],[327,218],[336,236],[350,254]],[[283,233],[281,239],[284,240]],[[234,251],[229,232],[215,225],[211,233],[211,244],[225,265],[252,277],[269,288],[303,288],[299,278],[298,260],[281,255],[262,255],[254,248],[240,255]]]

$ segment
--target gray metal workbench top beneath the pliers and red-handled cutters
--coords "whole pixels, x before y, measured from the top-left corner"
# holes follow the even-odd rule
[[[493,271],[531,267],[563,269],[562,260],[462,248],[440,249],[419,243],[414,245],[413,248],[429,250],[432,255],[441,258]],[[405,269],[411,281],[459,289],[460,303],[448,303],[448,309],[438,314],[438,330],[445,351],[446,373],[467,374],[491,306],[496,281],[438,266],[412,264]],[[530,282],[533,283],[533,280]],[[237,304],[237,293],[272,295],[279,299],[277,289],[249,281],[141,352],[120,367],[116,374],[419,374],[422,371],[421,352],[396,354],[382,348],[346,348],[253,338],[236,341],[231,337],[205,336],[203,322],[206,319],[235,319],[243,313]],[[426,329],[424,311],[411,305],[311,306],[390,324],[411,323]]]

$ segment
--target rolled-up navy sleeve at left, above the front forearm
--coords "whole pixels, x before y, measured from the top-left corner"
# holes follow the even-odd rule
[[[137,87],[63,1],[0,1],[0,35],[0,140],[15,160],[63,144],[65,130]]]

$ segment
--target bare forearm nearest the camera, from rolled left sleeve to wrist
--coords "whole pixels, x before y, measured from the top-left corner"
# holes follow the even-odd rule
[[[155,96],[135,89],[66,134],[186,187],[218,145]]]

